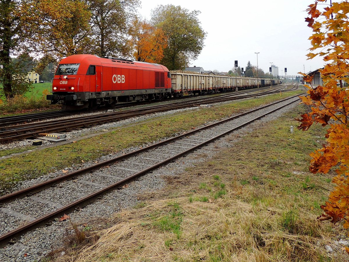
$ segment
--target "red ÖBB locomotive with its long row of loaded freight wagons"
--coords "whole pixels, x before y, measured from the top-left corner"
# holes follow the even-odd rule
[[[161,100],[238,88],[279,85],[281,80],[170,72],[159,64],[91,54],[62,59],[46,99],[64,109],[94,108],[117,102]]]

